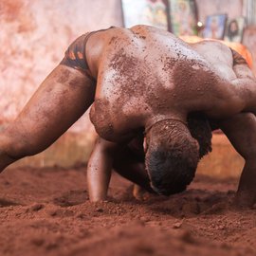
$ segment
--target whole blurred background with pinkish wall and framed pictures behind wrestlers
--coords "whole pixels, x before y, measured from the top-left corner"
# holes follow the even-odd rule
[[[224,40],[256,73],[254,0],[2,0],[0,2],[0,130],[15,119],[66,47],[82,33],[110,26],[147,24],[167,29],[188,42]],[[86,163],[95,138],[85,114],[46,152],[14,166],[71,167]],[[222,155],[237,175],[243,159],[222,135],[213,137],[212,170],[223,173]],[[209,165],[209,162],[207,162]],[[199,167],[200,169],[200,167]],[[204,162],[201,169],[204,169]]]

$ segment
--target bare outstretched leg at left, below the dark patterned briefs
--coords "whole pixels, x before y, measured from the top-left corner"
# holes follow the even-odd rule
[[[95,82],[58,65],[39,86],[17,119],[0,134],[0,172],[11,162],[45,150],[94,101]]]

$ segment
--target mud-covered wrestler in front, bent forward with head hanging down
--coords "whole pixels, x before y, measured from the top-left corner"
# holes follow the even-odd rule
[[[192,181],[199,147],[187,116],[219,122],[246,158],[239,194],[255,200],[256,86],[246,62],[218,42],[188,45],[154,27],[112,27],[83,35],[0,136],[0,169],[37,154],[92,104],[90,118],[106,140],[145,134],[151,188],[170,194]],[[239,120],[239,122],[238,122]]]

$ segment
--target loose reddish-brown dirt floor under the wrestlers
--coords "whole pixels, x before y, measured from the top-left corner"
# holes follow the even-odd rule
[[[113,175],[91,204],[85,168],[0,175],[0,255],[256,255],[255,210],[236,210],[236,180],[197,176],[187,192],[137,201]]]

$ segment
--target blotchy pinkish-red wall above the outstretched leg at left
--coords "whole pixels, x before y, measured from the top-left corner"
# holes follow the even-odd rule
[[[121,26],[119,0],[5,0],[0,3],[0,123],[30,95],[85,31]],[[85,129],[83,119],[72,128]]]

